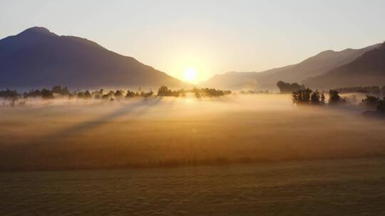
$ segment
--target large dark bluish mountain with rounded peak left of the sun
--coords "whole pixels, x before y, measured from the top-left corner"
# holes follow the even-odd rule
[[[183,85],[135,58],[46,28],[26,29],[0,40],[0,88],[66,85],[71,88]]]

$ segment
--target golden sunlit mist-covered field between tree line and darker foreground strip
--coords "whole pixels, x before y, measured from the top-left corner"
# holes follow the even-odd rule
[[[0,168],[196,166],[385,155],[385,123],[289,95],[31,101],[1,108]]]

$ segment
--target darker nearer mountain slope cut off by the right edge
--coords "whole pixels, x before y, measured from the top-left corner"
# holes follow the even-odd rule
[[[385,43],[351,63],[334,68],[324,75],[304,80],[304,85],[327,90],[334,87],[385,85]]]

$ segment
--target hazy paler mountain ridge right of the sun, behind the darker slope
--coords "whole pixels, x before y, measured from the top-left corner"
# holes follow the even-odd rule
[[[350,63],[366,51],[378,48],[379,44],[371,45],[361,49],[346,49],[342,51],[327,50],[314,55],[301,63],[288,65],[282,68],[266,70],[264,72],[232,72],[222,75],[216,75],[205,82],[205,85],[223,87],[240,90],[242,88],[252,88],[260,90],[276,90],[277,82],[298,82],[306,80],[309,77],[323,75],[333,68],[340,67]],[[252,86],[250,87],[250,84]]]

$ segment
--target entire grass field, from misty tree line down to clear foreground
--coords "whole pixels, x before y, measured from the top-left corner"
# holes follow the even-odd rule
[[[2,108],[0,215],[384,215],[385,122],[288,95]]]

